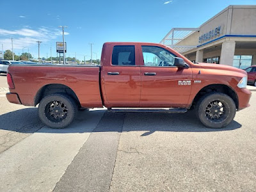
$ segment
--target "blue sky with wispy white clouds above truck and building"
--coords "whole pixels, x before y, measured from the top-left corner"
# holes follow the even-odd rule
[[[198,28],[234,4],[256,4],[256,0],[95,0],[95,1],[3,1],[0,2],[0,46],[19,55],[31,52],[38,58],[56,56],[56,42],[65,28],[67,57],[100,58],[104,42],[159,43],[172,28]],[[3,10],[5,10],[3,12]],[[25,47],[25,48],[24,48]],[[1,47],[0,47],[1,50]]]

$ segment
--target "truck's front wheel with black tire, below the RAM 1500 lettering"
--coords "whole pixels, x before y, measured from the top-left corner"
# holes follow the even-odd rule
[[[206,127],[222,128],[230,124],[236,115],[234,100],[224,93],[212,92],[200,98],[196,115]]]

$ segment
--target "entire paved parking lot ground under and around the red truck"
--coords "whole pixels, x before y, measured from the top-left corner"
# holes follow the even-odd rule
[[[10,104],[0,76],[0,191],[255,191],[256,92],[223,129],[184,114],[81,111],[67,129]],[[5,84],[5,85],[4,85]]]

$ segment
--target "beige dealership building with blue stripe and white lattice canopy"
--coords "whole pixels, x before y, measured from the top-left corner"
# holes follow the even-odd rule
[[[199,28],[173,28],[160,43],[194,62],[256,65],[256,5],[230,5]]]

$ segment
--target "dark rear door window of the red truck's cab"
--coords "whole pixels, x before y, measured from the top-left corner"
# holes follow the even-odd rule
[[[134,45],[116,45],[112,53],[112,65],[135,65]]]

